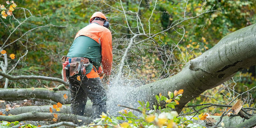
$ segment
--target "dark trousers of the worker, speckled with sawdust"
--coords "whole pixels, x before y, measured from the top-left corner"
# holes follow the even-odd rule
[[[107,94],[100,78],[88,79],[86,76],[80,76],[81,81],[78,81],[76,76],[69,78],[71,113],[83,116],[87,97],[89,97],[92,101],[93,118],[100,118],[102,112],[106,113],[107,102]]]

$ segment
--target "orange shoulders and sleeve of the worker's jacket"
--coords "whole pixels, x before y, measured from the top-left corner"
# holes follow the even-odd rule
[[[78,36],[87,36],[101,46],[101,63],[105,75],[110,75],[112,68],[112,35],[108,28],[92,23],[76,33]]]

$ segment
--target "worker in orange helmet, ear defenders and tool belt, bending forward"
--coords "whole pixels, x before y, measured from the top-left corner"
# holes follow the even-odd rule
[[[72,114],[84,115],[87,97],[92,101],[94,118],[106,113],[107,95],[102,82],[108,83],[112,67],[112,35],[108,26],[102,12],[93,13],[89,25],[76,33],[63,59],[63,79],[70,83]]]

